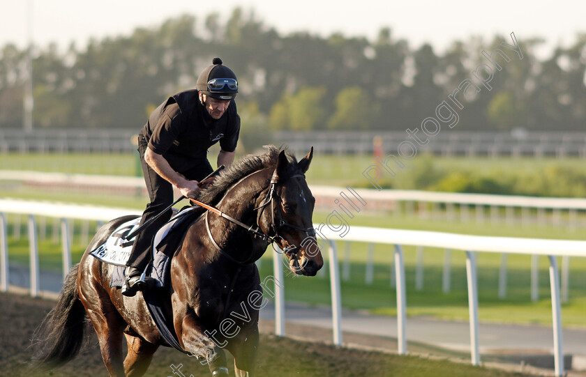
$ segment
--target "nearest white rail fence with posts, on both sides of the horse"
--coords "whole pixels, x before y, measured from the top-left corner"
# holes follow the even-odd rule
[[[68,218],[84,220],[107,221],[121,215],[137,213],[136,210],[120,208],[102,208],[95,206],[78,206],[59,203],[39,203],[31,201],[14,201],[0,199],[0,275],[1,290],[8,290],[8,246],[6,232],[5,213],[18,213],[28,215],[29,218],[29,244],[30,244],[30,272],[32,296],[39,294],[39,265],[38,247],[36,239],[35,216],[59,217],[63,224],[63,275],[66,275],[70,265],[70,243],[68,242]],[[324,237],[329,238],[329,275],[331,286],[332,302],[332,328],[333,343],[343,344],[341,323],[343,321],[340,300],[340,274],[338,267],[338,251],[336,248],[337,233],[324,229]],[[571,256],[586,256],[586,241],[577,240],[547,240],[531,238],[508,238],[488,236],[468,236],[453,233],[440,233],[432,231],[408,231],[396,229],[366,228],[352,226],[352,230],[344,238],[345,241],[356,241],[362,243],[373,243],[393,245],[394,255],[394,284],[397,299],[398,316],[398,353],[407,352],[407,338],[405,328],[407,326],[406,316],[406,287],[405,287],[405,266],[403,261],[403,246],[411,245],[416,247],[440,247],[444,249],[463,250],[466,253],[467,288],[469,302],[470,321],[470,344],[472,364],[478,365],[481,362],[479,353],[479,320],[478,320],[478,290],[476,287],[476,253],[489,252],[507,254],[528,254],[532,256],[548,256],[550,261],[550,291],[553,316],[553,349],[555,357],[555,375],[564,376],[563,339],[562,339],[562,318],[561,318],[561,295],[559,289],[559,275],[557,257],[562,256],[568,259]],[[321,240],[320,240],[321,242]],[[419,252],[418,252],[419,254]],[[418,256],[419,259],[419,256]],[[418,269],[420,267],[418,266]],[[283,263],[280,255],[275,254],[273,269],[278,281],[283,282]],[[562,268],[563,270],[564,268]],[[345,272],[344,272],[345,273]],[[421,277],[416,277],[416,282]],[[502,282],[499,282],[503,284]],[[506,283],[505,283],[506,284]],[[285,295],[283,284],[276,284],[276,333],[285,334]]]

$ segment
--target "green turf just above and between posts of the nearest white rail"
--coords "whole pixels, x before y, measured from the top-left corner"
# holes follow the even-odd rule
[[[315,220],[320,221],[325,213],[317,213]],[[9,255],[11,263],[27,265],[29,261],[29,246],[26,239],[24,217],[22,222],[21,238],[15,240],[13,223],[17,220],[14,215],[8,216]],[[579,233],[560,230],[547,226],[505,226],[504,224],[474,224],[462,222],[437,222],[432,220],[417,220],[412,217],[377,217],[361,215],[355,217],[355,225],[394,227],[405,229],[423,229],[435,231],[451,231],[454,233],[487,234],[487,235],[516,235],[541,238],[577,238]],[[42,222],[42,220],[39,220]],[[73,238],[73,261],[78,261],[87,243],[82,239],[80,231],[82,222],[75,222],[75,236]],[[47,220],[45,238],[39,241],[40,264],[42,268],[61,271],[61,245],[52,235],[53,220]],[[89,229],[96,229],[95,222],[89,222]],[[90,231],[90,233],[91,233]],[[41,238],[41,237],[40,237]],[[84,243],[85,242],[85,243]],[[343,272],[345,243],[338,242],[338,259],[340,273]],[[271,249],[269,249],[271,250]],[[377,314],[396,314],[396,295],[391,287],[391,261],[393,249],[390,245],[375,245],[374,282],[368,285],[366,278],[366,260],[368,245],[365,243],[351,243],[350,279],[342,280],[342,304],[351,309],[368,309]],[[465,272],[465,253],[454,250],[451,258],[451,291],[442,292],[442,268],[444,265],[444,250],[436,248],[425,249],[424,288],[416,291],[415,266],[416,256],[414,247],[404,247],[405,270],[407,284],[407,314],[410,316],[435,316],[440,318],[468,318],[467,286]],[[323,250],[327,259],[327,250]],[[262,258],[261,274],[263,277],[273,275],[272,251]],[[498,274],[500,255],[480,253],[477,258],[479,272],[479,317],[483,321],[499,321],[511,323],[543,323],[551,321],[550,286],[548,277],[548,261],[540,259],[539,266],[539,298],[538,302],[530,300],[530,257],[511,254],[508,259],[507,296],[499,299]],[[561,265],[561,261],[559,261]],[[324,274],[318,277],[297,277],[286,273],[285,295],[287,300],[307,302],[312,305],[329,305],[331,296],[329,291],[328,266]],[[586,281],[583,272],[586,270],[586,259],[571,259],[569,302],[562,307],[562,319],[565,325],[585,325],[583,313],[586,310]]]

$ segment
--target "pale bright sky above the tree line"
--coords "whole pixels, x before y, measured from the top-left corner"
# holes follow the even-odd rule
[[[545,39],[546,54],[554,45],[570,45],[576,33],[586,33],[586,1],[580,0],[0,0],[0,46],[26,45],[29,9],[33,43],[54,42],[65,49],[72,41],[82,48],[89,38],[129,35],[136,27],[156,27],[186,13],[203,21],[217,12],[226,20],[236,6],[255,10],[264,24],[281,33],[310,31],[327,36],[342,32],[373,39],[389,26],[393,38],[406,39],[411,47],[430,43],[438,52],[453,40],[491,39],[514,32],[520,40]]]

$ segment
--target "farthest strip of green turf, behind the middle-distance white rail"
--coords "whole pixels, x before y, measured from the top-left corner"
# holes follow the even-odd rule
[[[216,150],[210,151],[210,161],[215,162]],[[301,156],[299,156],[301,157]],[[239,156],[236,156],[236,159]],[[60,171],[68,174],[109,174],[121,176],[140,175],[136,153],[126,154],[71,154],[54,153],[1,155],[0,169]],[[373,185],[362,175],[374,163],[370,155],[315,155],[307,173],[310,185],[352,185],[370,187]],[[396,176],[386,174],[381,184],[399,189],[421,189],[439,174],[453,171],[467,171],[490,174],[491,176],[516,176],[527,174],[543,175],[551,167],[562,166],[586,174],[586,164],[578,157],[555,159],[553,157],[441,157],[418,155],[405,162],[405,167],[395,167]]]

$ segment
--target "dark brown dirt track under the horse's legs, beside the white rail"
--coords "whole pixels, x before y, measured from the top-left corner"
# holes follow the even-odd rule
[[[89,338],[89,344],[82,349],[80,355],[66,366],[54,371],[32,371],[28,367],[32,352],[30,339],[55,302],[0,293],[0,303],[0,376],[107,376],[95,335]],[[264,324],[264,328],[270,327],[271,323]],[[324,335],[329,336],[329,333]],[[170,365],[180,363],[183,364],[181,371],[187,377],[190,374],[209,376],[207,367],[200,366],[196,360],[170,348],[160,348],[157,351],[147,376],[175,376]],[[454,367],[447,365],[449,374],[437,374],[439,367],[446,370],[446,364],[445,361],[396,357],[264,334],[261,337],[257,376],[469,376],[472,369],[474,376],[478,377],[516,375],[467,365],[458,365],[457,371],[451,370]]]

